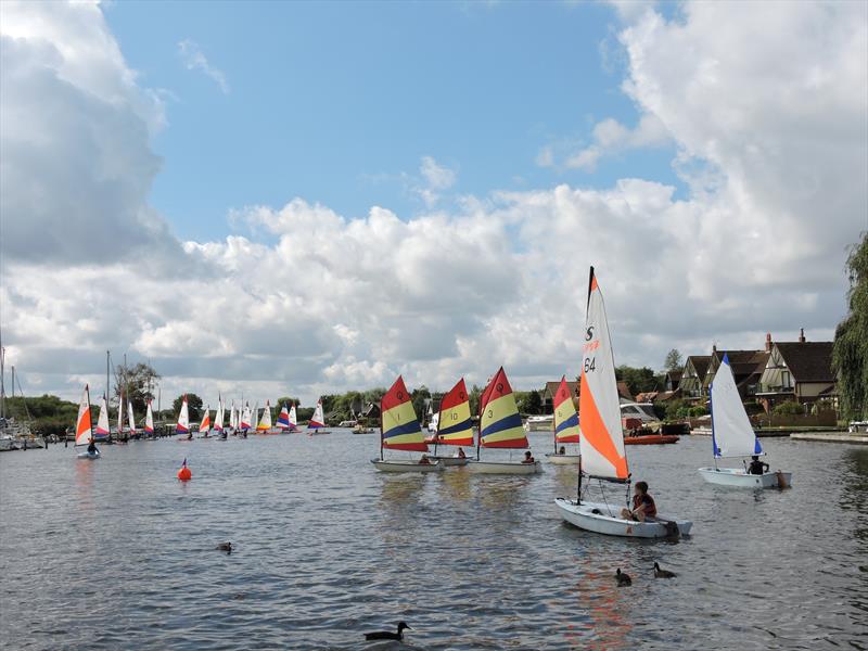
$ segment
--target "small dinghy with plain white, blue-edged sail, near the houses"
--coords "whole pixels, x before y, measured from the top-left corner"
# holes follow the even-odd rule
[[[724,355],[720,368],[714,374],[711,390],[712,449],[714,468],[700,468],[699,474],[710,484],[743,486],[750,488],[786,488],[792,480],[791,472],[764,472],[750,474],[746,468],[717,468],[717,459],[731,459],[764,455],[763,446],[754,434],[748,412],[741,403],[729,357]]]

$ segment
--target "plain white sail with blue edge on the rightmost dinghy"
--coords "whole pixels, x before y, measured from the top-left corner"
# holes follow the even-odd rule
[[[762,455],[760,439],[753,432],[748,412],[741,403],[729,357],[724,355],[714,374],[711,390],[712,445],[715,457],[750,457]]]

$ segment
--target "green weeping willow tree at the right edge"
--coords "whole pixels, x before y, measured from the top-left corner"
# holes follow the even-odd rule
[[[847,257],[850,311],[834,333],[832,366],[845,418],[868,418],[868,232]]]

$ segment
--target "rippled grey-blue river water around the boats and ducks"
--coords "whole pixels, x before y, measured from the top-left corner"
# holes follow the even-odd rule
[[[676,542],[562,524],[567,468],[380,474],[376,435],[8,452],[0,646],[358,649],[405,620],[419,649],[868,648],[868,448],[764,445],[791,489],[705,484],[706,437],[628,448],[661,510],[693,520]]]

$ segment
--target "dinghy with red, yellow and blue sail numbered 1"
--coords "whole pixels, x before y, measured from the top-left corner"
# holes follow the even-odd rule
[[[416,459],[386,460],[383,451],[387,449],[427,451],[410,394],[400,375],[380,400],[380,458],[371,459],[371,463],[381,472],[438,472],[444,468],[439,461],[425,463]],[[424,456],[423,459],[427,461]]]

